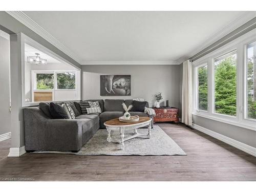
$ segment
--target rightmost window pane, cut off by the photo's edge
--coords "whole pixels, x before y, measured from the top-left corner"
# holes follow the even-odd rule
[[[256,41],[246,46],[246,118],[256,119]]]

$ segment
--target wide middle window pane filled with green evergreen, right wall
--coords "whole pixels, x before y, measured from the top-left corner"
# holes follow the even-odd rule
[[[215,113],[237,115],[237,52],[214,59]]]

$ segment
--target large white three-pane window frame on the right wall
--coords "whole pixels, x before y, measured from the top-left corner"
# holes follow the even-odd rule
[[[204,55],[203,57],[193,61],[193,115],[200,117],[244,127],[245,129],[256,131],[256,121],[246,119],[246,45],[256,40],[256,29],[232,40],[228,44],[218,48],[217,50]],[[215,113],[214,105],[214,59],[227,54],[233,50],[237,50],[237,116],[229,116]],[[208,111],[197,109],[197,68],[207,62],[208,70]]]

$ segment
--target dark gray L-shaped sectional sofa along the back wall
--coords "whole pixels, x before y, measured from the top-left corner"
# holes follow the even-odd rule
[[[26,151],[72,151],[78,152],[104,122],[123,115],[122,103],[129,105],[133,100],[105,99],[99,101],[102,113],[81,114],[78,103],[72,103],[77,109],[76,119],[52,119],[47,109],[38,107],[24,108],[25,148]],[[148,103],[146,103],[148,107]],[[143,112],[130,112],[131,115],[148,116]]]

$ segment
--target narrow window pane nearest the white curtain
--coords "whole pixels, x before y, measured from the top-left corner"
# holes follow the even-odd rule
[[[207,111],[208,108],[208,75],[207,63],[197,68],[198,80],[198,110]]]

